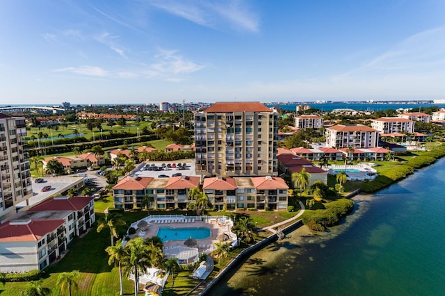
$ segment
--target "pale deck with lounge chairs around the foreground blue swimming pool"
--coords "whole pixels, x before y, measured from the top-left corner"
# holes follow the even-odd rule
[[[154,221],[149,222],[149,224],[142,229],[136,229],[136,233],[142,238],[151,238],[153,236],[156,236],[158,233],[159,227],[170,227],[172,229],[180,229],[180,228],[198,228],[198,227],[206,227],[210,229],[211,236],[209,238],[206,238],[204,240],[196,240],[197,241],[197,248],[200,252],[203,252],[205,249],[209,249],[211,245],[215,242],[219,242],[218,236],[223,235],[225,233],[225,227],[218,224],[218,222],[213,221],[200,221],[200,220],[194,220],[194,222],[160,222],[156,223]],[[164,242],[164,247],[174,247],[174,246],[184,246],[184,242],[186,240],[168,240],[167,242]]]

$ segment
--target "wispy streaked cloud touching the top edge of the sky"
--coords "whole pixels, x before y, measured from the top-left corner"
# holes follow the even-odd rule
[[[159,0],[150,2],[150,5],[200,26],[216,29],[229,26],[236,31],[253,33],[259,31],[259,16],[245,1]]]

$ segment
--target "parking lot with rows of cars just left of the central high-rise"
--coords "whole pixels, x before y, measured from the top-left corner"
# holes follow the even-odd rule
[[[181,163],[181,167],[177,167],[178,163]],[[183,165],[184,163],[185,167]],[[170,167],[168,165],[170,165]],[[155,169],[147,169],[148,167],[155,167]],[[133,171],[133,174],[136,176],[151,176],[153,178],[162,176],[170,178],[174,174],[196,176],[195,161],[190,159],[182,159],[179,161],[147,161],[145,165],[140,165],[138,170]]]

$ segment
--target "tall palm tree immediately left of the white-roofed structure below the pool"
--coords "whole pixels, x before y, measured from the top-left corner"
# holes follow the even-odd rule
[[[134,275],[134,295],[138,296],[139,274],[150,266],[147,260],[149,250],[143,238],[140,237],[127,242],[124,249],[127,252],[125,271],[127,274]]]

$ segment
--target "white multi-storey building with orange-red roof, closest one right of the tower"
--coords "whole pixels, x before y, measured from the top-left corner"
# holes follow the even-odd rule
[[[326,129],[326,147],[373,148],[378,147],[378,137],[378,131],[369,126],[337,124]]]

